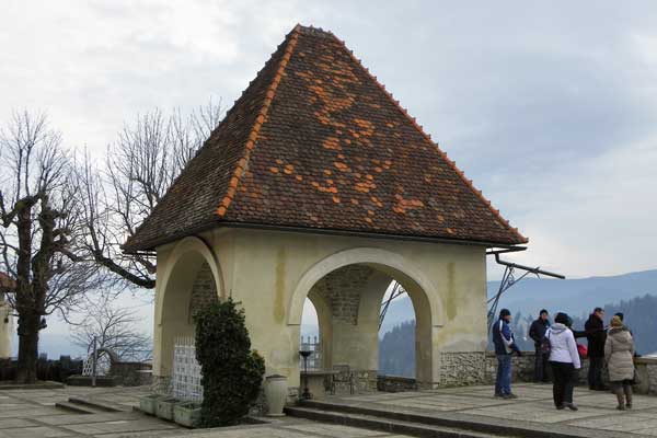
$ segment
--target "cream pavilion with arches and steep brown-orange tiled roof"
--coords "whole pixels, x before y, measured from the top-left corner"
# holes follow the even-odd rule
[[[391,280],[424,388],[483,372],[486,250],[527,243],[330,32],[296,26],[125,251],[157,253],[153,374],[195,309],[232,297],[267,373],[299,385],[303,303],[323,367],[374,376]]]

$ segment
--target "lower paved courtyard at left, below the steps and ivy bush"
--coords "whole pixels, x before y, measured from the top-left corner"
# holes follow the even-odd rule
[[[0,438],[59,437],[316,437],[360,438],[399,435],[383,434],[354,427],[324,425],[298,418],[284,418],[266,425],[240,426],[223,429],[189,430],[175,424],[132,412],[146,389],[91,389],[67,387],[56,390],[0,391]],[[77,414],[55,406],[70,396],[82,396],[111,403],[122,412]]]

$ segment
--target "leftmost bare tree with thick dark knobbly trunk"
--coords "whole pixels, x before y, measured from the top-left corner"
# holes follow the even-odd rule
[[[14,113],[0,131],[0,266],[15,281],[16,380],[36,380],[45,316],[65,318],[97,279],[74,252],[81,237],[71,153],[43,114]]]

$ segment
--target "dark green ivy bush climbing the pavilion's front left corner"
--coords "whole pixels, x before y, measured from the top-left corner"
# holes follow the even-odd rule
[[[251,350],[244,311],[231,299],[199,310],[194,321],[203,372],[201,426],[235,425],[260,394],[265,360]]]

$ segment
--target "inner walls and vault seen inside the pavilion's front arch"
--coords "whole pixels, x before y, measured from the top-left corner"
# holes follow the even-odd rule
[[[420,384],[433,382],[431,309],[436,303],[415,278],[397,267],[370,261],[343,263],[320,273],[314,276],[307,297],[316,309],[324,368],[348,369],[358,389],[377,388],[381,303],[394,280],[407,292],[416,321],[412,374]]]

